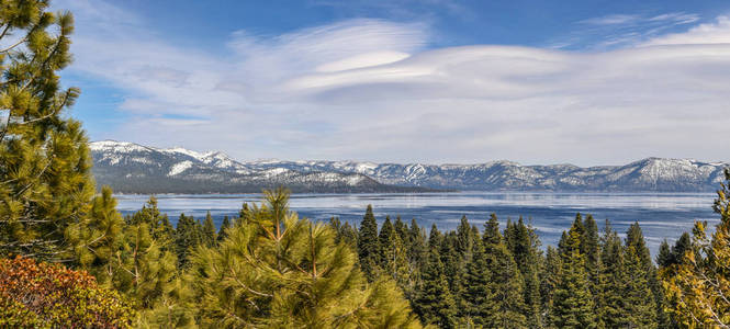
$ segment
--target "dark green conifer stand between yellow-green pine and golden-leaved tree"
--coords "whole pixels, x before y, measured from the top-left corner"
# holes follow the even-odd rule
[[[480,230],[467,217],[456,230],[429,232],[386,217],[378,231],[368,207],[359,229],[332,219],[357,248],[369,280],[391,277],[424,322],[440,328],[672,328],[638,223],[626,239],[579,214],[557,248],[543,251],[523,218]]]

